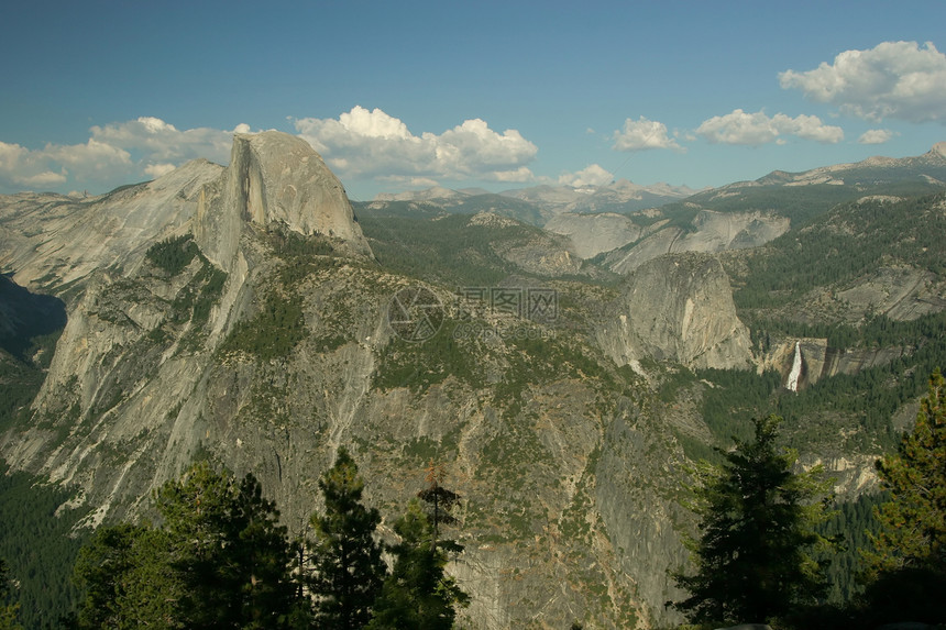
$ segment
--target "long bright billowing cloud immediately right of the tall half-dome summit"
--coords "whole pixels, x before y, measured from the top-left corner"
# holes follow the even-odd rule
[[[298,119],[295,126],[341,177],[527,181],[532,175],[525,165],[538,152],[518,131],[501,134],[480,119],[418,136],[402,120],[360,106],[338,119]]]

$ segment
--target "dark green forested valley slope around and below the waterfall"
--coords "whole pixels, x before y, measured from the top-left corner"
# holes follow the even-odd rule
[[[946,356],[946,312],[909,322],[878,317],[857,331],[855,346],[902,347],[905,352],[889,363],[855,374],[821,378],[798,393],[785,390],[777,372],[757,375],[749,371],[701,369],[695,375],[672,376],[663,368],[659,395],[672,402],[680,388],[696,380],[712,384],[702,390],[700,410],[716,439],[716,445],[735,435],[749,435],[752,417],[776,412],[785,419],[790,444],[822,452],[853,449],[880,452],[898,441],[892,418],[904,405],[922,395],[924,375]],[[652,366],[650,366],[652,368]],[[840,434],[845,436],[839,439]],[[683,440],[691,457],[713,456],[707,446]]]

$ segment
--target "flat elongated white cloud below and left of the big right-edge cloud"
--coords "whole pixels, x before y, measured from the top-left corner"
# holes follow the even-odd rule
[[[816,115],[791,118],[777,113],[769,118],[765,112],[747,113],[741,109],[726,115],[716,115],[703,121],[696,133],[712,143],[745,144],[759,146],[776,142],[784,144],[784,135],[835,144],[844,140],[839,126],[824,124]]]

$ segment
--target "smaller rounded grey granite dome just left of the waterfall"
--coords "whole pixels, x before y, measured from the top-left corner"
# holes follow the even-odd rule
[[[619,365],[645,356],[688,367],[747,367],[751,361],[729,278],[719,261],[701,254],[669,254],[638,267],[598,341]]]

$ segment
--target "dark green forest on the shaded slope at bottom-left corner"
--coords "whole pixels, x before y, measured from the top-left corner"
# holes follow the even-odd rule
[[[76,600],[68,567],[85,538],[75,528],[89,510],[61,509],[74,498],[40,477],[11,472],[6,464],[0,469],[0,557],[15,584],[10,601],[19,606],[26,628],[54,625]]]

